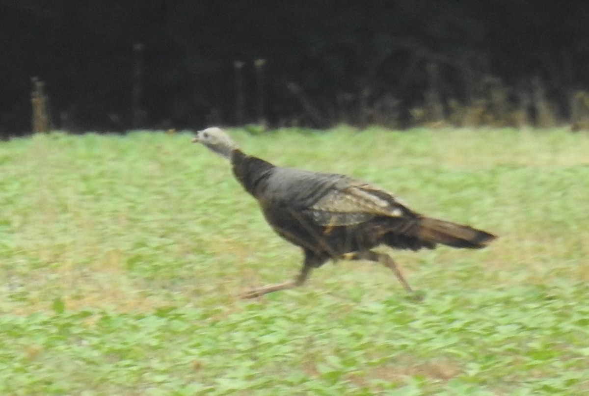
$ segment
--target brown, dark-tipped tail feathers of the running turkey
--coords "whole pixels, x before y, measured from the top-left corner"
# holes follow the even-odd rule
[[[454,248],[480,249],[497,236],[469,226],[423,217],[417,232],[419,239],[443,243]]]

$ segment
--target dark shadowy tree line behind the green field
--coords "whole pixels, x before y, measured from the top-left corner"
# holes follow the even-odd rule
[[[31,130],[35,76],[74,131],[403,127],[481,99],[562,121],[587,21],[583,0],[0,0],[0,134]]]

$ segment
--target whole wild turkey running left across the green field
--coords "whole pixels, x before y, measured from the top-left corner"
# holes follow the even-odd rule
[[[248,156],[217,127],[197,131],[193,142],[229,159],[233,174],[257,199],[274,231],[303,249],[303,268],[293,281],[252,289],[243,298],[300,286],[329,259],[382,263],[412,293],[392,258],[373,248],[433,249],[442,243],[478,249],[495,239],[482,230],[413,212],[388,192],[352,177],[278,167]]]

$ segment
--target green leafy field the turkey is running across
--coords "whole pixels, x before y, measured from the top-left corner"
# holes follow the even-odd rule
[[[188,133],[0,142],[2,395],[589,394],[589,136],[236,130],[500,238],[328,263],[299,289],[229,164]]]

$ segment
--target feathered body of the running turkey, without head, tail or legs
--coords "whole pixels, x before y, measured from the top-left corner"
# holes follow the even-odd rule
[[[418,215],[388,193],[359,180],[334,173],[276,167],[239,150],[233,154],[232,165],[233,174],[257,199],[269,225],[302,248],[315,267],[345,253],[382,244],[412,250],[435,246],[407,235],[413,223],[418,222]],[[350,191],[356,196],[348,197]],[[358,192],[366,196],[357,197]],[[375,199],[388,206],[378,206],[373,202]],[[374,206],[382,213],[371,212]]]

